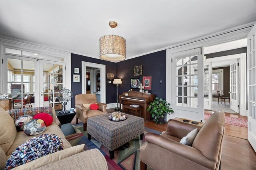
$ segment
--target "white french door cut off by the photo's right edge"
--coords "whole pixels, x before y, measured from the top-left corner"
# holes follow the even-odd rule
[[[256,151],[256,25],[247,36],[248,141]]]

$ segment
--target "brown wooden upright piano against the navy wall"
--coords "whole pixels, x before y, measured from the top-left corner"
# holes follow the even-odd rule
[[[151,102],[155,100],[156,95],[154,94],[146,94],[141,92],[124,92],[119,95],[120,109],[121,104],[137,104],[142,106],[142,115],[144,115],[144,119],[150,120],[150,112],[147,111]]]

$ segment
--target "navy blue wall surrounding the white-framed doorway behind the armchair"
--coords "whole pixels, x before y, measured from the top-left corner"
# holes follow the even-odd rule
[[[71,106],[75,107],[75,96],[76,94],[82,94],[82,61],[104,64],[106,65],[106,74],[111,72],[116,78],[116,63],[104,61],[101,59],[94,59],[91,57],[86,57],[77,54],[71,54],[71,91],[73,92],[73,98],[71,101]],[[80,82],[73,82],[74,67],[79,68],[80,73]],[[106,75],[104,75],[106,77]],[[108,78],[106,77],[106,103],[115,103],[116,102],[116,86],[111,83],[108,83]]]

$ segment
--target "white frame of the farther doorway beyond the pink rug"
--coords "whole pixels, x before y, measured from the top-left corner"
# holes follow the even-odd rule
[[[225,59],[224,59],[225,58]],[[207,63],[212,63],[216,61],[223,61],[223,60],[231,60],[231,59],[238,59],[239,60],[239,114],[243,116],[248,115],[248,111],[246,109],[246,99],[247,98],[247,85],[246,85],[246,53],[240,53],[235,55],[227,55],[221,57],[214,57],[210,59],[206,59]]]

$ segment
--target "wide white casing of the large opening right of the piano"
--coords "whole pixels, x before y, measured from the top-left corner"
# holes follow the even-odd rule
[[[254,25],[254,23],[253,23]],[[238,29],[234,31],[223,31],[222,34],[215,33],[214,36],[209,36],[207,38],[201,37],[200,39],[194,39],[194,41],[184,42],[180,45],[174,45],[170,49],[166,50],[166,101],[173,104],[172,101],[172,53],[178,53],[180,51],[186,51],[189,49],[207,47],[220,43],[226,43],[230,41],[235,41],[238,39],[244,39],[247,34],[252,29],[253,25],[250,27],[245,27],[244,29]],[[175,114],[175,110],[174,113]],[[247,113],[246,113],[247,114]],[[171,119],[172,115],[167,116],[167,120]]]

